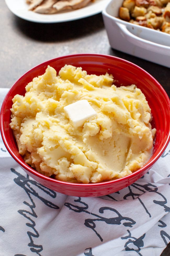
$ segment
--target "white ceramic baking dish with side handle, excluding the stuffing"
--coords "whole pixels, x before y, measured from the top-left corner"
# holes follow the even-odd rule
[[[123,0],[111,0],[102,11],[113,49],[170,67],[170,35],[118,19]]]

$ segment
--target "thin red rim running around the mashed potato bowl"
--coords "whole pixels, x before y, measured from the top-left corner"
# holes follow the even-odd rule
[[[69,54],[69,55],[64,55],[64,56],[60,56],[60,57],[56,57],[56,58],[53,58],[53,59],[49,59],[45,62],[42,62],[34,67],[32,67],[30,70],[28,70],[27,72],[25,72],[18,80],[15,81],[15,83],[9,88],[9,91],[7,92],[4,100],[3,100],[3,103],[2,103],[2,107],[1,107],[1,112],[0,112],[0,131],[1,131],[1,135],[2,135],[2,140],[4,142],[4,145],[5,147],[7,148],[9,154],[14,158],[14,160],[21,166],[22,169],[26,169],[27,171],[29,171],[31,174],[43,179],[43,180],[46,180],[46,181],[50,181],[50,182],[54,182],[54,183],[57,183],[57,184],[62,184],[62,185],[67,185],[67,186],[77,186],[77,187],[97,187],[97,186],[102,186],[102,185],[113,185],[115,183],[118,183],[120,181],[125,181],[125,180],[128,180],[129,177],[133,177],[133,176],[136,176],[140,173],[143,173],[143,170],[144,169],[147,169],[149,170],[154,164],[155,162],[160,158],[160,156],[164,153],[166,147],[168,146],[169,142],[170,142],[170,129],[169,129],[169,133],[168,133],[168,136],[167,136],[167,139],[165,141],[165,143],[163,144],[161,150],[159,153],[157,153],[156,156],[154,156],[154,154],[151,156],[151,159],[149,159],[140,169],[138,169],[137,171],[134,171],[132,174],[129,174],[127,176],[124,176],[122,178],[117,178],[117,179],[113,179],[113,180],[109,180],[109,181],[102,181],[102,182],[98,182],[98,183],[88,183],[88,184],[83,184],[83,183],[73,183],[73,182],[68,182],[68,181],[60,181],[60,180],[56,180],[56,179],[53,179],[52,177],[48,177],[48,176],[45,176],[41,173],[38,173],[38,171],[34,170],[33,168],[31,168],[28,164],[26,164],[24,162],[24,160],[21,160],[22,157],[19,159],[15,153],[13,152],[13,150],[11,150],[11,148],[9,147],[9,144],[8,144],[8,141],[6,139],[6,136],[5,136],[5,131],[4,131],[4,125],[3,125],[3,116],[4,116],[4,109],[5,109],[5,102],[8,101],[8,98],[9,98],[9,95],[12,93],[13,91],[13,88],[17,86],[17,82],[22,79],[26,74],[30,73],[31,71],[35,70],[35,69],[38,69],[39,67],[41,66],[44,66],[44,65],[50,65],[49,62],[53,62],[53,61],[57,61],[57,60],[60,60],[60,59],[65,59],[65,58],[72,58],[72,57],[82,57],[82,56],[99,56],[99,57],[104,57],[104,58],[109,58],[109,59],[115,59],[115,60],[118,60],[118,61],[121,61],[123,63],[126,63],[126,64],[129,64],[133,67],[136,67],[138,70],[144,72],[150,79],[152,79],[156,84],[157,86],[159,87],[159,89],[161,90],[161,92],[163,93],[164,97],[166,98],[166,101],[168,102],[169,104],[169,115],[170,115],[170,99],[165,91],[165,89],[161,86],[161,84],[152,76],[150,75],[147,71],[145,71],[143,68],[141,68],[140,66],[134,64],[133,62],[130,62],[128,60],[125,60],[125,59],[122,59],[120,57],[117,57],[117,56],[112,56],[112,55],[107,55],[107,54]],[[153,157],[154,156],[154,157]]]

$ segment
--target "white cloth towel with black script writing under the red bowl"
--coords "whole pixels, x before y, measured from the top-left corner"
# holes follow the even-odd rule
[[[2,138],[0,161],[0,256],[160,256],[170,242],[170,144],[141,179],[102,197],[42,186]]]

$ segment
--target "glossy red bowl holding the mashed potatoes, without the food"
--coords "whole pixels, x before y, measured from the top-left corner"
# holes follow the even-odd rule
[[[155,127],[157,131],[153,155],[142,168],[126,177],[116,180],[95,184],[75,184],[46,177],[32,169],[22,159],[22,156],[18,152],[13,131],[9,126],[12,98],[17,93],[24,95],[27,83],[32,81],[34,77],[42,75],[45,72],[47,65],[54,67],[58,73],[60,68],[65,64],[82,67],[88,72],[88,74],[100,75],[108,72],[118,80],[118,83],[116,84],[117,86],[122,83],[124,85],[135,84],[145,94],[153,116],[152,127]],[[129,61],[114,56],[99,54],[62,56],[48,60],[34,67],[14,83],[5,96],[2,104],[0,113],[0,129],[3,142],[10,155],[27,174],[42,185],[66,195],[82,197],[102,196],[114,193],[131,185],[133,182],[141,178],[163,154],[170,140],[170,100],[163,87],[154,79],[154,77]]]

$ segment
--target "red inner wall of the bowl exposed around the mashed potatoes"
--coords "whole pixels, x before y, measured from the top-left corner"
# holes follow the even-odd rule
[[[115,85],[131,85],[135,84],[146,96],[146,100],[151,108],[153,120],[152,127],[155,127],[156,137],[154,145],[154,154],[148,163],[145,164],[142,170],[150,168],[155,161],[163,154],[170,139],[170,101],[162,86],[146,71],[140,67],[128,62],[126,60],[98,54],[77,54],[59,57],[53,60],[46,61],[24,74],[8,91],[1,108],[1,134],[4,144],[12,155],[12,157],[21,165],[23,169],[29,170],[30,167],[25,164],[24,160],[18,152],[12,129],[9,127],[10,123],[10,108],[12,107],[12,98],[14,95],[25,94],[25,86],[27,83],[38,75],[42,75],[47,65],[54,67],[59,72],[60,68],[65,64],[82,67],[88,74],[105,74],[106,72],[112,74],[118,82]],[[34,173],[36,171],[33,170]],[[36,174],[42,177],[41,174]],[[130,175],[128,175],[130,176]],[[134,176],[134,173],[133,173]],[[142,175],[141,175],[142,176]],[[124,177],[127,179],[127,177]],[[51,178],[48,178],[51,179]],[[51,179],[52,180],[52,179]],[[57,182],[54,180],[54,182]],[[112,181],[115,182],[115,181]],[[67,182],[62,182],[67,184]],[[74,184],[75,185],[75,184]],[[89,184],[95,186],[95,184]]]

